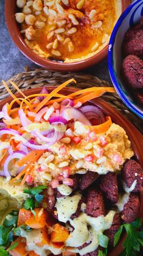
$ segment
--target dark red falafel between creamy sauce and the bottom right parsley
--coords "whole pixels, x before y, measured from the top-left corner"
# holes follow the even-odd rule
[[[114,214],[113,224],[111,225],[110,229],[105,230],[104,234],[109,238],[109,244],[114,246],[114,235],[120,228],[120,215]]]

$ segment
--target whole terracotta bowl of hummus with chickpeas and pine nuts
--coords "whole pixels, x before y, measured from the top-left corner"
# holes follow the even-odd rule
[[[5,1],[13,41],[38,65],[74,71],[106,56],[114,24],[130,1],[36,0],[31,4]]]

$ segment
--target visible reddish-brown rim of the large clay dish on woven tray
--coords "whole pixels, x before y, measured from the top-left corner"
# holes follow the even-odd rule
[[[48,92],[51,92],[54,89],[55,89],[54,86],[47,87]],[[75,89],[72,87],[67,87],[62,89],[60,92],[63,93],[63,95],[68,95],[69,93],[76,92],[77,90],[78,89]],[[31,94],[40,93],[40,92],[41,92],[41,88],[34,88],[34,89],[25,90],[24,94],[26,96],[29,96]],[[15,96],[21,97],[19,93],[16,93]],[[12,97],[8,97],[2,100],[0,102],[0,111],[2,109],[2,106],[4,106],[5,103],[10,103],[10,101],[12,101]],[[142,134],[139,133],[139,131],[128,121],[128,119],[126,119],[122,114],[120,114],[119,111],[114,109],[110,104],[106,103],[101,98],[96,98],[95,100],[92,100],[90,102],[98,106],[106,115],[110,115],[114,123],[124,128],[124,130],[128,135],[128,138],[131,141],[131,146],[134,151],[134,157],[136,158],[136,161],[138,161],[138,163],[141,164],[141,166],[143,167],[143,154],[142,154],[143,136]],[[141,199],[141,207],[139,210],[139,217],[143,219],[143,191],[140,194],[140,199]],[[117,246],[108,253],[108,256],[118,256],[122,252],[123,250],[122,243],[124,239],[125,239],[125,235],[122,236]]]

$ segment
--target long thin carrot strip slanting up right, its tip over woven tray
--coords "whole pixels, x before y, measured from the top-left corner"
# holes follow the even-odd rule
[[[49,101],[52,97],[54,97],[57,92],[59,92],[61,89],[67,86],[70,82],[76,83],[75,79],[73,78],[69,79],[66,82],[63,82],[63,84],[55,88],[51,93],[49,93],[49,95],[46,98],[44,98],[43,101],[40,102],[40,104],[38,104],[37,108],[35,108],[35,112],[37,113],[38,111],[40,111],[40,109],[43,108],[43,106],[47,103],[47,101]]]

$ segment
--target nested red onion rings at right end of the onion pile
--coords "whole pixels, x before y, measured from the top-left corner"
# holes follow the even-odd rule
[[[105,122],[105,117],[103,115],[103,112],[100,110],[100,108],[96,106],[86,105],[81,107],[80,111],[82,111],[82,113],[85,114],[89,120],[97,119],[99,122],[99,125]]]

